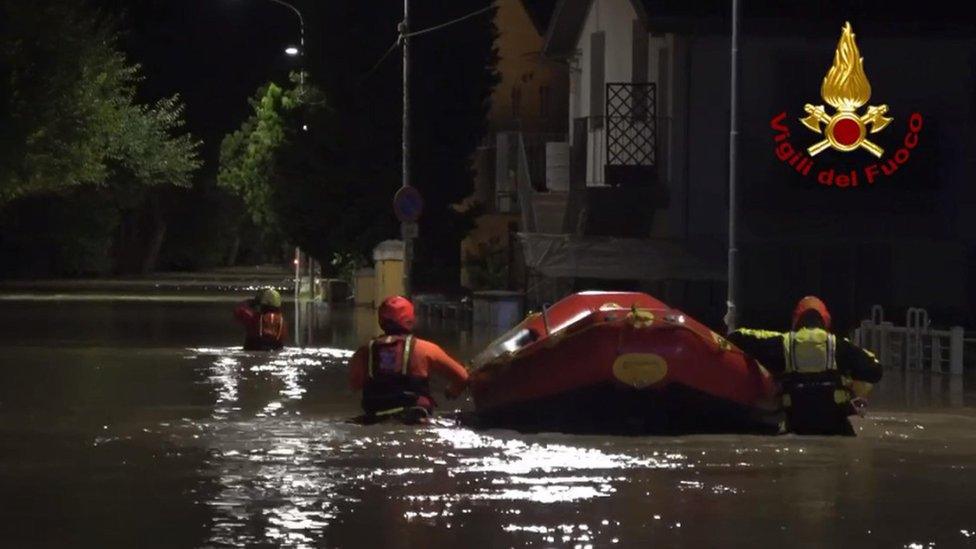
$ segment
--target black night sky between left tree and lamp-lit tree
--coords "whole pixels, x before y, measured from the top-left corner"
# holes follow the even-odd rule
[[[99,0],[96,5],[121,18],[123,47],[143,66],[142,99],[183,97],[189,130],[204,141],[203,173],[215,171],[220,140],[247,116],[247,98],[257,86],[283,80],[298,68],[298,60],[284,53],[287,45],[298,43],[298,18],[269,0]]]

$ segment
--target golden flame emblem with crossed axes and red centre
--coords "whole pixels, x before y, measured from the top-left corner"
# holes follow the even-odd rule
[[[857,110],[871,98],[871,84],[864,74],[864,58],[857,49],[854,29],[849,22],[841,30],[837,51],[834,52],[834,64],[824,77],[820,95],[837,112],[829,115],[823,105],[804,105],[807,116],[801,118],[800,122],[825,137],[807,148],[810,156],[832,147],[842,152],[864,148],[881,158],[884,149],[867,139],[868,128],[870,133],[877,133],[892,119],[884,116],[888,112],[887,105],[868,106],[864,114],[857,114]],[[826,129],[822,124],[826,125]]]

